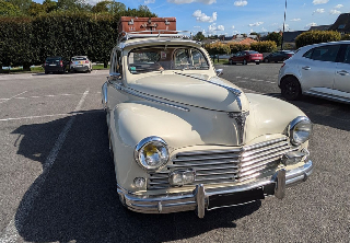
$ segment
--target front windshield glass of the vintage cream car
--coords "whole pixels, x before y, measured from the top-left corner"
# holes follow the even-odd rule
[[[209,69],[205,55],[195,47],[156,46],[132,49],[128,56],[129,70],[133,74],[184,69]]]

